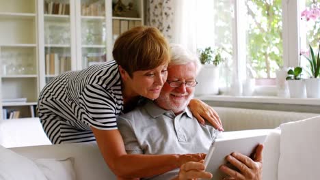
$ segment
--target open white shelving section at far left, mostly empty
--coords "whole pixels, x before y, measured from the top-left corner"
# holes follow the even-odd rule
[[[29,117],[39,93],[36,0],[0,4],[1,117]]]

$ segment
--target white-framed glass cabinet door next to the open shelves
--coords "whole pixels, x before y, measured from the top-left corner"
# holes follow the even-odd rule
[[[77,69],[76,2],[38,0],[40,89],[58,74]]]

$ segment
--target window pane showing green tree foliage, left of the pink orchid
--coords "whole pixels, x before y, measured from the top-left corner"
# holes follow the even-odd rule
[[[245,7],[247,76],[276,78],[283,65],[281,1],[246,0]]]

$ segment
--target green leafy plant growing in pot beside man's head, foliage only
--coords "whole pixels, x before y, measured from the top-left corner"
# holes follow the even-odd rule
[[[204,48],[204,50],[199,49],[198,52],[200,54],[199,59],[202,64],[219,65],[219,63],[222,63],[224,61],[224,59],[221,57],[221,52],[222,52],[221,48],[212,50],[211,47],[207,47],[207,48]]]

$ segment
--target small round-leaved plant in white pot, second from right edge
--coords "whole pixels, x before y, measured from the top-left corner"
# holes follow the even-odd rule
[[[301,79],[302,67],[290,68],[287,72],[286,80],[288,80],[291,98],[306,98],[306,84]]]

